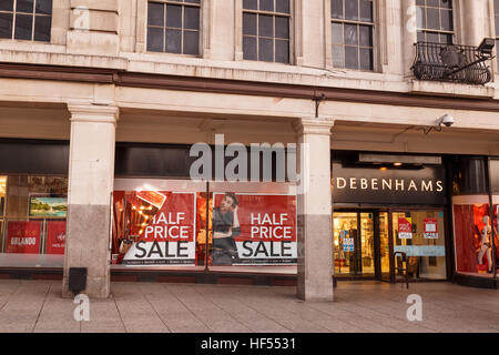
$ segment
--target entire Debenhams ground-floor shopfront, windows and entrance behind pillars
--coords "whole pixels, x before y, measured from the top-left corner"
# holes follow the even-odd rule
[[[61,278],[69,143],[0,149],[0,275]],[[295,184],[194,182],[194,160],[186,145],[116,145],[112,280],[295,283]],[[336,280],[395,282],[407,266],[495,285],[499,160],[333,151],[332,172]]]

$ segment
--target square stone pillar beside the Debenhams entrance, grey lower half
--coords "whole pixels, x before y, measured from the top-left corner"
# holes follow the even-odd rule
[[[305,301],[333,301],[330,130],[333,120],[302,119],[298,133],[298,285]]]

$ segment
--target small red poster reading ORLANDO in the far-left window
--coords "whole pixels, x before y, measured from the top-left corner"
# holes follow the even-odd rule
[[[38,254],[40,250],[41,222],[9,222],[7,227],[7,253]]]

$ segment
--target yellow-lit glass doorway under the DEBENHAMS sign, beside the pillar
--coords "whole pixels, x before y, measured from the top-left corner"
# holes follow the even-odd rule
[[[388,212],[335,212],[333,248],[336,277],[390,281]]]

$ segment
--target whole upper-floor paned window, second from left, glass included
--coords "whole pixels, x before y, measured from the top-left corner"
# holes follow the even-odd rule
[[[201,0],[149,1],[147,51],[200,54]]]

